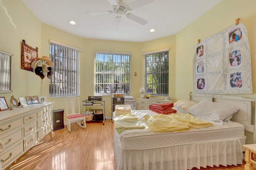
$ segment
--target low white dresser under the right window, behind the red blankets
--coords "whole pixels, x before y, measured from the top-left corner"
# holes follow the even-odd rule
[[[172,100],[164,100],[162,98],[137,99],[137,110],[148,110],[149,105],[154,103],[172,103]]]

